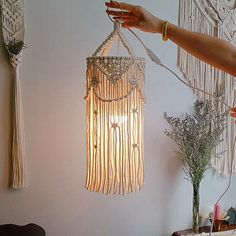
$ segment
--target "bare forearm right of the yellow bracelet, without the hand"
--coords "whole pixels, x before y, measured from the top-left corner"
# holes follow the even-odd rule
[[[167,36],[200,60],[236,76],[236,48],[230,43],[174,24],[168,25]]]

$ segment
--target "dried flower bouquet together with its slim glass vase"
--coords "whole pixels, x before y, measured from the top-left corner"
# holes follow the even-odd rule
[[[225,128],[227,112],[219,112],[219,97],[214,101],[197,100],[192,114],[186,113],[183,119],[164,114],[171,130],[164,133],[178,146],[178,158],[182,162],[186,179],[193,187],[193,222],[194,233],[199,231],[199,188],[209,161],[220,142],[220,135]]]

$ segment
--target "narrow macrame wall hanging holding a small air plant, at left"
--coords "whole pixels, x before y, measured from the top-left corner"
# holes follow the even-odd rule
[[[12,188],[21,189],[27,187],[23,110],[19,78],[21,51],[24,47],[25,35],[24,1],[1,0],[1,14],[4,45],[14,70],[10,182]]]

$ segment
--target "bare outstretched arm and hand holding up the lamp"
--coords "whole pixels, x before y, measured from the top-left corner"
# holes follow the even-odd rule
[[[127,3],[107,2],[107,13],[115,20],[122,20],[122,26],[137,28],[144,32],[162,32],[163,20],[152,15],[141,6]],[[123,12],[119,9],[122,8]],[[202,61],[236,76],[236,47],[232,44],[202,33],[197,33],[168,24],[168,38]]]

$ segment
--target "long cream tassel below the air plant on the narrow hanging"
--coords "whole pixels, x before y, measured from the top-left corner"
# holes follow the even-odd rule
[[[27,187],[25,135],[23,122],[23,108],[21,101],[21,85],[19,78],[20,55],[13,56],[11,63],[14,68],[13,79],[13,137],[12,137],[12,179],[11,187],[21,189]]]

